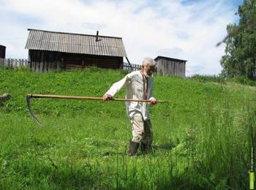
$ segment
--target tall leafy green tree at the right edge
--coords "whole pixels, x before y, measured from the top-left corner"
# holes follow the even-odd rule
[[[222,75],[256,80],[256,0],[244,0],[238,15],[238,25],[228,25],[222,41],[226,43],[225,56],[220,60]]]

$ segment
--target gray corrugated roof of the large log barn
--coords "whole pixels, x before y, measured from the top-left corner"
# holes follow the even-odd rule
[[[74,34],[57,31],[28,29],[25,49],[81,53],[97,56],[127,57],[121,37]]]

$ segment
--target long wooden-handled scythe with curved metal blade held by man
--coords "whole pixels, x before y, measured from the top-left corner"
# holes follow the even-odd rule
[[[31,99],[32,98],[53,98],[53,99],[83,99],[83,100],[102,100],[102,97],[90,97],[90,96],[62,96],[62,95],[50,95],[50,94],[28,94],[26,96],[26,104],[28,105],[29,113],[31,115],[31,118],[34,118],[35,121],[39,124],[39,126],[42,126],[42,122],[39,121],[39,119],[34,115],[32,109],[31,109]],[[147,99],[111,99],[113,101],[122,101],[122,102],[150,102],[150,100]],[[158,102],[165,102],[162,100],[157,100]]]

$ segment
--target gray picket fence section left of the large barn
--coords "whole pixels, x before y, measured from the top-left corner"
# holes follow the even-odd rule
[[[0,58],[0,67],[15,69],[29,66],[27,59],[21,58]]]

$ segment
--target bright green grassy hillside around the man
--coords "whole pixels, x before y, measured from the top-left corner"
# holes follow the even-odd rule
[[[0,70],[0,94],[12,94],[0,105],[0,189],[248,188],[255,87],[154,77],[154,96],[167,103],[150,107],[146,156],[127,156],[124,102],[32,99],[44,126],[29,117],[26,94],[102,96],[125,74]]]

